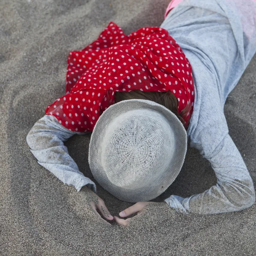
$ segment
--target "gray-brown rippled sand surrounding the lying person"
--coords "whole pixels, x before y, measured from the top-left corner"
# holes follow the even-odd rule
[[[156,6],[157,3],[157,6]],[[76,192],[40,166],[26,134],[47,105],[64,95],[67,56],[96,40],[110,21],[129,34],[160,26],[169,0],[1,1],[0,255],[256,255],[256,204],[240,212],[184,215],[163,202],[216,183],[211,166],[189,148],[175,182],[127,227],[103,221]],[[250,101],[247,101],[247,99]],[[256,56],[230,93],[230,135],[256,185]],[[133,203],[113,197],[93,179],[90,134],[65,143],[81,172],[97,186],[112,215]]]

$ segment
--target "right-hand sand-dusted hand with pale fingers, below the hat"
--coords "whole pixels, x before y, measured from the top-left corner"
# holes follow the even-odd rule
[[[135,215],[133,218],[137,217],[138,215],[141,215],[141,210],[147,206],[148,204],[159,204],[157,202],[138,202],[134,205],[132,205],[131,207],[128,207],[126,208],[125,210],[123,210],[122,212],[124,212],[124,214],[122,214],[122,212],[119,212],[119,215],[120,217],[127,217],[133,213],[136,213],[138,212],[137,215]],[[120,225],[123,225],[123,226],[127,226],[129,224],[129,221],[131,220],[132,218],[127,218],[127,219],[121,219],[121,218],[118,218],[117,216],[114,216],[114,220],[120,224]]]

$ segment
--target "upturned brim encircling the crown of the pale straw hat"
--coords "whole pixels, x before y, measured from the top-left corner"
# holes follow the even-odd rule
[[[106,127],[112,119],[127,110],[151,108],[159,111],[170,123],[175,134],[175,150],[169,169],[163,172],[153,184],[138,189],[124,189],[111,183],[102,166],[102,141]],[[172,145],[173,146],[173,145]],[[183,166],[187,151],[187,133],[177,118],[168,108],[156,102],[144,99],[123,100],[108,107],[99,117],[90,137],[88,161],[93,177],[116,198],[127,202],[150,201],[161,195],[176,179]]]

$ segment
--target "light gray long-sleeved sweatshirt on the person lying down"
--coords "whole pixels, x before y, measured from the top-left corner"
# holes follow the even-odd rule
[[[245,4],[246,3],[246,4]],[[169,207],[189,214],[246,209],[255,202],[253,180],[231,139],[224,103],[256,52],[255,0],[183,0],[160,27],[175,38],[189,59],[195,81],[195,103],[187,130],[190,146],[211,163],[217,184],[182,198],[171,195]],[[96,184],[85,177],[64,146],[74,134],[54,116],[39,119],[26,141],[38,163],[80,191]]]

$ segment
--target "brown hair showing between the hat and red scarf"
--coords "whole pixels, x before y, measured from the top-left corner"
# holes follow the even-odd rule
[[[130,92],[115,92],[115,103],[127,99],[147,99],[163,105],[172,111],[177,116],[177,118],[180,119],[180,122],[182,122],[183,125],[185,122],[183,116],[185,116],[191,110],[191,106],[186,105],[186,107],[180,113],[178,113],[179,102],[176,96],[170,90],[165,92],[144,92],[141,90],[132,90]]]

